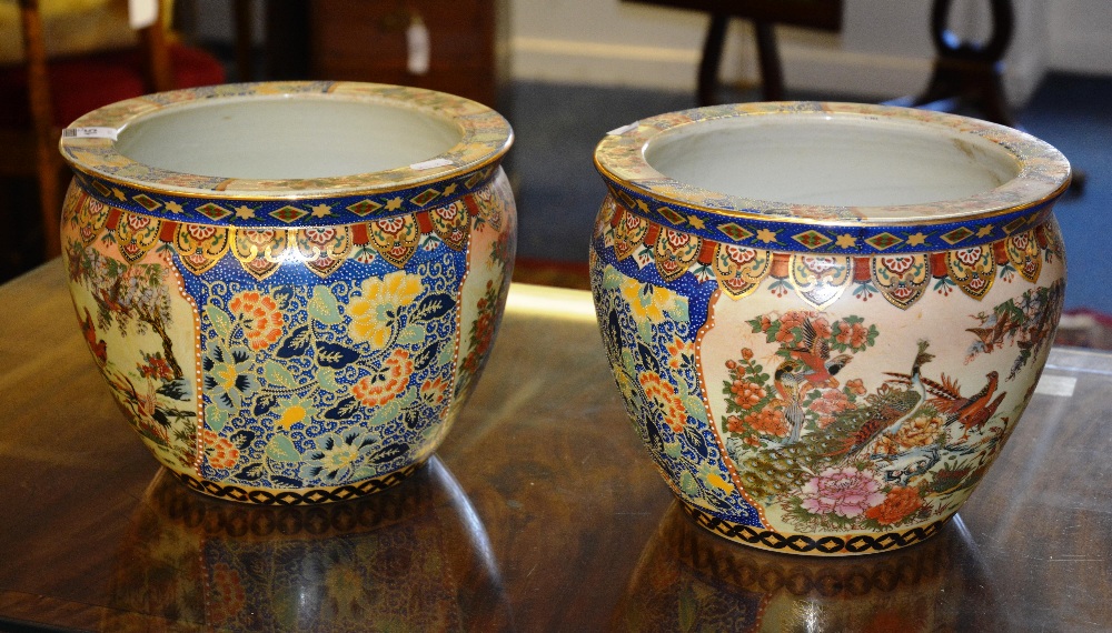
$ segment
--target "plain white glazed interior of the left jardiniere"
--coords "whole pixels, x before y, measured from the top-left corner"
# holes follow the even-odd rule
[[[169,171],[235,179],[314,179],[420,162],[463,139],[448,119],[379,103],[311,97],[235,100],[157,111],[116,149]]]

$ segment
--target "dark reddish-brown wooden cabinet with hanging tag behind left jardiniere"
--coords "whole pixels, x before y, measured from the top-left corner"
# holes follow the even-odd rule
[[[309,73],[416,86],[494,107],[502,73],[497,8],[496,0],[314,0],[308,9]],[[407,64],[406,32],[415,21],[428,32],[424,73],[410,72]]]

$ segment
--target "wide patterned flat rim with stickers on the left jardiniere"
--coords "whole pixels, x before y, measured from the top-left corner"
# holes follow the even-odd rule
[[[128,125],[159,114],[220,103],[284,99],[368,103],[407,110],[456,128],[447,150],[393,169],[321,178],[235,178],[185,173],[143,164],[118,148]],[[59,151],[75,171],[128,188],[235,200],[339,198],[389,193],[458,179],[497,164],[514,142],[509,122],[477,101],[423,88],[357,81],[262,81],[186,88],[127,99],[83,114],[62,130]]]

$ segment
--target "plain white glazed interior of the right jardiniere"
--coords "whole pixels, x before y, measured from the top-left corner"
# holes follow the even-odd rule
[[[645,160],[709,191],[791,204],[891,207],[959,200],[1021,172],[1015,155],[972,134],[915,122],[747,117],[653,138]]]

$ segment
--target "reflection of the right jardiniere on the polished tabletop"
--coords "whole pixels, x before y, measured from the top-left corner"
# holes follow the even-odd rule
[[[645,547],[622,631],[990,631],[991,583],[961,519],[921,546],[855,559],[738,547],[678,504]]]

